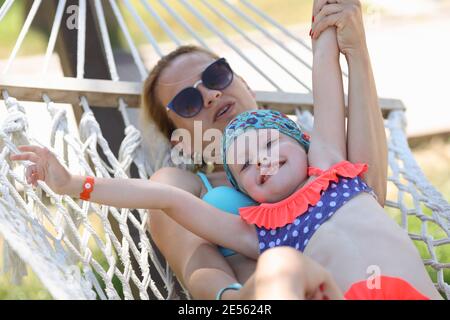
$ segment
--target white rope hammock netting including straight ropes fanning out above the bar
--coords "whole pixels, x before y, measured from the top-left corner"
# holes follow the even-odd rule
[[[0,21],[11,7],[13,0],[6,0],[0,7]],[[17,43],[10,55],[2,77],[6,78],[7,71],[14,61],[17,52],[27,34],[31,22],[41,4],[35,0],[28,17],[17,39]],[[141,1],[149,14],[158,21],[161,28],[169,34],[176,45],[182,44],[164,21],[158,17],[149,2]],[[123,32],[129,46],[131,56],[143,80],[147,76],[146,67],[139,55],[137,46],[128,31],[116,1],[109,0],[117,23]],[[208,48],[195,30],[171,11],[165,1],[159,1],[166,10],[181,24],[200,45]],[[198,11],[190,6],[188,1],[180,3],[188,8],[206,27],[215,30],[216,36],[221,38],[241,58],[272,86],[281,92],[277,83],[271,77],[264,75],[251,59],[246,57],[239,47],[233,44],[219,30],[205,21]],[[207,1],[201,3],[214,11]],[[237,9],[230,1],[221,1],[231,10]],[[246,6],[255,9],[247,0],[242,0]],[[49,66],[53,53],[66,1],[59,0],[55,20],[51,30],[43,74]],[[162,49],[154,40],[150,30],[145,26],[139,15],[128,0],[124,4],[138,23],[140,30],[146,35],[155,52],[161,56]],[[86,1],[79,1],[78,45],[77,45],[77,78],[84,78],[85,33],[86,33]],[[102,3],[95,0],[95,12],[98,19],[102,47],[105,51],[112,81],[119,81],[118,69],[114,60],[108,29],[103,14]],[[259,15],[264,13],[257,12]],[[219,11],[215,14],[220,15]],[[239,10],[241,18],[249,20]],[[232,20],[221,17],[233,27]],[[265,16],[269,20],[270,17]],[[277,25],[273,20],[269,22],[280,29],[286,37],[305,46],[304,42]],[[297,62],[307,66],[307,63],[295,55],[284,45],[281,37],[274,37],[265,29],[250,21],[267,37],[270,37],[279,47],[297,59]],[[238,29],[237,32],[240,32]],[[241,33],[245,37],[245,33]],[[252,40],[247,37],[247,41]],[[287,42],[286,42],[287,43]],[[288,73],[306,91],[311,92],[304,84],[290,72],[292,67],[283,66],[279,62],[284,59],[274,59],[256,42],[252,42],[258,50],[277,63],[284,72]],[[310,49],[309,49],[310,50]],[[308,51],[310,53],[310,51]],[[289,62],[288,62],[289,63]],[[273,77],[276,78],[276,77]],[[280,77],[282,82],[283,77]],[[1,80],[1,78],[0,78]],[[48,186],[39,181],[38,187],[33,189],[25,182],[24,166],[27,162],[12,163],[9,156],[17,153],[18,145],[35,144],[43,146],[41,141],[30,136],[28,123],[33,121],[25,112],[21,102],[10,96],[7,90],[1,92],[6,117],[0,124],[0,236],[4,243],[4,268],[12,273],[13,280],[19,282],[26,274],[26,266],[31,267],[39,277],[45,288],[55,299],[184,299],[190,298],[189,293],[182,288],[174,277],[168,264],[157,248],[152,244],[147,232],[147,225],[151,223],[148,210],[120,209],[98,205],[68,196],[60,196],[52,192]],[[69,130],[68,118],[64,109],[56,104],[43,92],[43,102],[51,118],[49,145],[45,145],[54,152],[73,174],[92,175],[96,177],[130,177],[130,168],[135,166],[141,179],[148,179],[151,174],[164,166],[173,165],[170,160],[170,145],[159,142],[152,136],[154,144],[150,154],[144,148],[141,132],[133,125],[127,116],[127,105],[119,99],[118,108],[125,123],[125,138],[123,139],[118,157],[111,151],[108,141],[103,137],[102,130],[94,117],[86,97],[81,97],[80,104],[83,114],[78,132]],[[312,127],[312,115],[307,111],[296,110],[297,121],[305,129]],[[442,195],[427,181],[419,166],[415,162],[409,149],[405,135],[405,114],[403,110],[391,110],[385,120],[389,147],[389,188],[386,202],[387,212],[408,231],[412,240],[420,249],[424,264],[436,277],[433,279],[438,290],[450,298],[450,285],[445,282],[444,274],[450,272],[450,261],[445,261],[450,250],[450,205]],[[104,154],[107,162],[102,159],[99,151]],[[407,268],[408,266],[405,266]],[[447,278],[448,279],[448,278]]]

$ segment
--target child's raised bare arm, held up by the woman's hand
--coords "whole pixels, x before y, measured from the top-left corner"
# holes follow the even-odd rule
[[[345,102],[334,27],[313,39],[314,127],[309,165],[322,170],[346,159]]]

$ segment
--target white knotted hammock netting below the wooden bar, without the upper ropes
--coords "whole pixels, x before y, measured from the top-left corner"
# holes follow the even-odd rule
[[[24,274],[23,263],[26,263],[58,299],[179,297],[170,269],[156,256],[146,233],[147,210],[133,214],[128,209],[57,195],[41,181],[36,190],[26,184],[24,170],[14,170],[8,157],[17,152],[17,145],[39,145],[40,142],[28,136],[28,119],[20,103],[11,97],[4,102],[8,115],[0,128],[0,233],[6,244],[6,268],[14,271],[16,280]],[[79,127],[81,138],[77,138],[68,130],[65,113],[56,109],[51,101],[46,102],[52,117],[51,145],[47,147],[66,166],[67,154],[76,155],[81,170],[73,172],[72,169],[75,174],[124,178],[129,176],[130,165],[134,163],[140,177],[147,179],[153,169],[146,163],[140,132],[133,125],[127,126],[119,159],[116,159],[85,99],[83,104],[85,113]],[[311,125],[310,114],[298,115],[301,125]],[[389,135],[389,181],[397,188],[396,197],[388,198],[387,207],[401,214],[401,225],[406,229],[409,217],[420,219],[420,233],[410,232],[410,236],[426,246],[428,257],[424,263],[437,271],[437,288],[448,297],[450,286],[444,282],[444,270],[450,268],[450,263],[440,261],[437,250],[450,243],[450,206],[427,182],[414,161],[404,134],[403,113],[391,112],[386,129]],[[111,165],[101,160],[98,147]],[[162,165],[170,165],[169,160]],[[16,166],[23,169],[20,164]],[[18,189],[23,191],[18,192]],[[412,202],[408,202],[407,196]],[[120,236],[113,231],[112,222],[118,225]],[[131,236],[130,225],[138,232],[137,242]],[[428,230],[436,227],[442,230],[442,238],[434,239],[429,234]],[[156,277],[163,286],[156,285]],[[115,286],[115,281],[120,285]],[[133,297],[132,286],[136,287],[134,292],[139,296]]]

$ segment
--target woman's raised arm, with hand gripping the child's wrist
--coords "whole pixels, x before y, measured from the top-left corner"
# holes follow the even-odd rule
[[[358,0],[315,0],[314,37],[336,27],[340,51],[349,66],[347,157],[365,162],[367,183],[383,206],[387,187],[387,143],[378,96],[366,45],[361,4]]]

